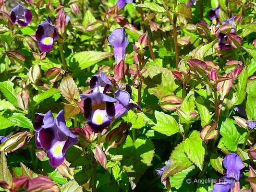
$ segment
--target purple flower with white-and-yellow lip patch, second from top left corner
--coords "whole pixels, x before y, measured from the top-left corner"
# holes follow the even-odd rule
[[[53,41],[57,40],[57,29],[47,20],[37,25],[36,39],[41,51],[49,52],[53,47]]]

